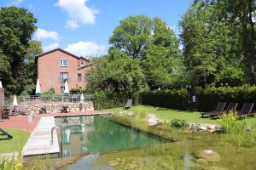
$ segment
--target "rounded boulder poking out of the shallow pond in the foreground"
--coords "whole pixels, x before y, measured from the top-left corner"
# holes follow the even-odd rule
[[[195,155],[197,158],[206,159],[210,162],[217,162],[221,160],[221,157],[216,151],[213,150],[200,150]]]

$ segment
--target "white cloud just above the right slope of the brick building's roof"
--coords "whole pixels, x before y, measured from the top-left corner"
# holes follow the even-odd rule
[[[104,45],[98,45],[96,42],[80,41],[73,44],[68,44],[65,50],[84,57],[88,55],[101,55],[107,53],[107,47]]]

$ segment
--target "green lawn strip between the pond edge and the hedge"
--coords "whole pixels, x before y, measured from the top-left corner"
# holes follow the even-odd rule
[[[172,109],[153,107],[148,105],[132,106],[129,110],[123,110],[123,108],[115,108],[104,110],[106,112],[119,112],[119,111],[137,111],[144,110],[147,113],[153,113],[157,117],[165,120],[183,119],[187,122],[201,122],[209,124],[218,124],[218,119],[201,118],[200,112],[197,111],[177,111]],[[256,123],[256,117],[247,117],[247,124],[253,125]]]

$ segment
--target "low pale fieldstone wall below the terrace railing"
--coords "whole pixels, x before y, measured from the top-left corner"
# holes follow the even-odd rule
[[[94,106],[92,102],[85,102],[83,104],[55,102],[55,103],[26,104],[26,113],[30,113],[30,112],[39,113],[39,111],[42,108],[45,108],[47,113],[60,113],[63,106],[67,106],[69,112],[94,111]]]

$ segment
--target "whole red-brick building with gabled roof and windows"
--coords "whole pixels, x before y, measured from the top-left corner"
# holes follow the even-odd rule
[[[42,93],[54,88],[56,94],[63,94],[66,81],[69,89],[85,88],[85,74],[92,67],[89,59],[68,53],[61,48],[39,54],[36,62]]]

